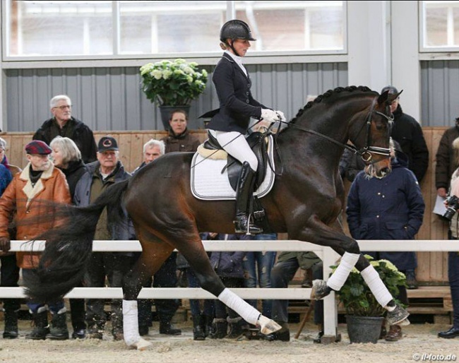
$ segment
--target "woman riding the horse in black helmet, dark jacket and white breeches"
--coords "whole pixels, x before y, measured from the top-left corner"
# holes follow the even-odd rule
[[[268,124],[284,121],[285,117],[282,112],[268,109],[254,100],[251,95],[251,79],[242,64],[250,40],[255,39],[249,25],[242,20],[229,20],[220,30],[220,47],[225,53],[212,76],[220,109],[213,112],[207,127],[222,148],[242,162],[236,190],[236,233],[258,234],[263,230],[251,224],[248,216],[249,197],[254,192],[258,161],[244,135],[249,129],[250,117],[263,119]]]

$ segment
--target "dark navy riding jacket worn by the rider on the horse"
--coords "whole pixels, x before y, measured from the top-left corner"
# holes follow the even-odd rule
[[[237,131],[243,135],[249,129],[250,118],[260,119],[261,109],[268,108],[252,97],[252,85],[247,76],[229,54],[224,53],[213,72],[212,81],[217,90],[220,108],[209,114],[207,125],[216,131]]]

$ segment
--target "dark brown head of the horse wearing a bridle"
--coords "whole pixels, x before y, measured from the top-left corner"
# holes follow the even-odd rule
[[[403,91],[400,91],[402,93]],[[379,95],[371,102],[364,124],[358,133],[358,145],[363,145],[357,153],[364,160],[368,177],[383,178],[391,172],[391,150],[389,141],[393,125],[391,103],[400,93]],[[365,132],[361,132],[364,131]]]

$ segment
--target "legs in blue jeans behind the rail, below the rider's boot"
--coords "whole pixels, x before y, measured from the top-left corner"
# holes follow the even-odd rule
[[[249,239],[256,241],[278,239],[275,233],[262,233],[249,236]],[[271,270],[275,262],[275,251],[246,252],[244,261],[244,286],[245,287],[271,287]],[[248,300],[252,307],[257,307],[257,300]],[[271,318],[271,300],[263,300],[261,313]]]

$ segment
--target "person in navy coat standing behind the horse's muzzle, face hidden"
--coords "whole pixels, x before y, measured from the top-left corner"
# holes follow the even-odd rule
[[[424,199],[415,174],[406,168],[406,156],[395,153],[391,141],[392,172],[383,179],[366,178],[360,172],[347,196],[347,224],[354,239],[415,239],[424,217]],[[406,273],[417,267],[415,252],[369,252],[376,259],[391,261]],[[408,304],[405,287],[398,299]],[[390,327],[386,340],[402,338],[402,328]]]

